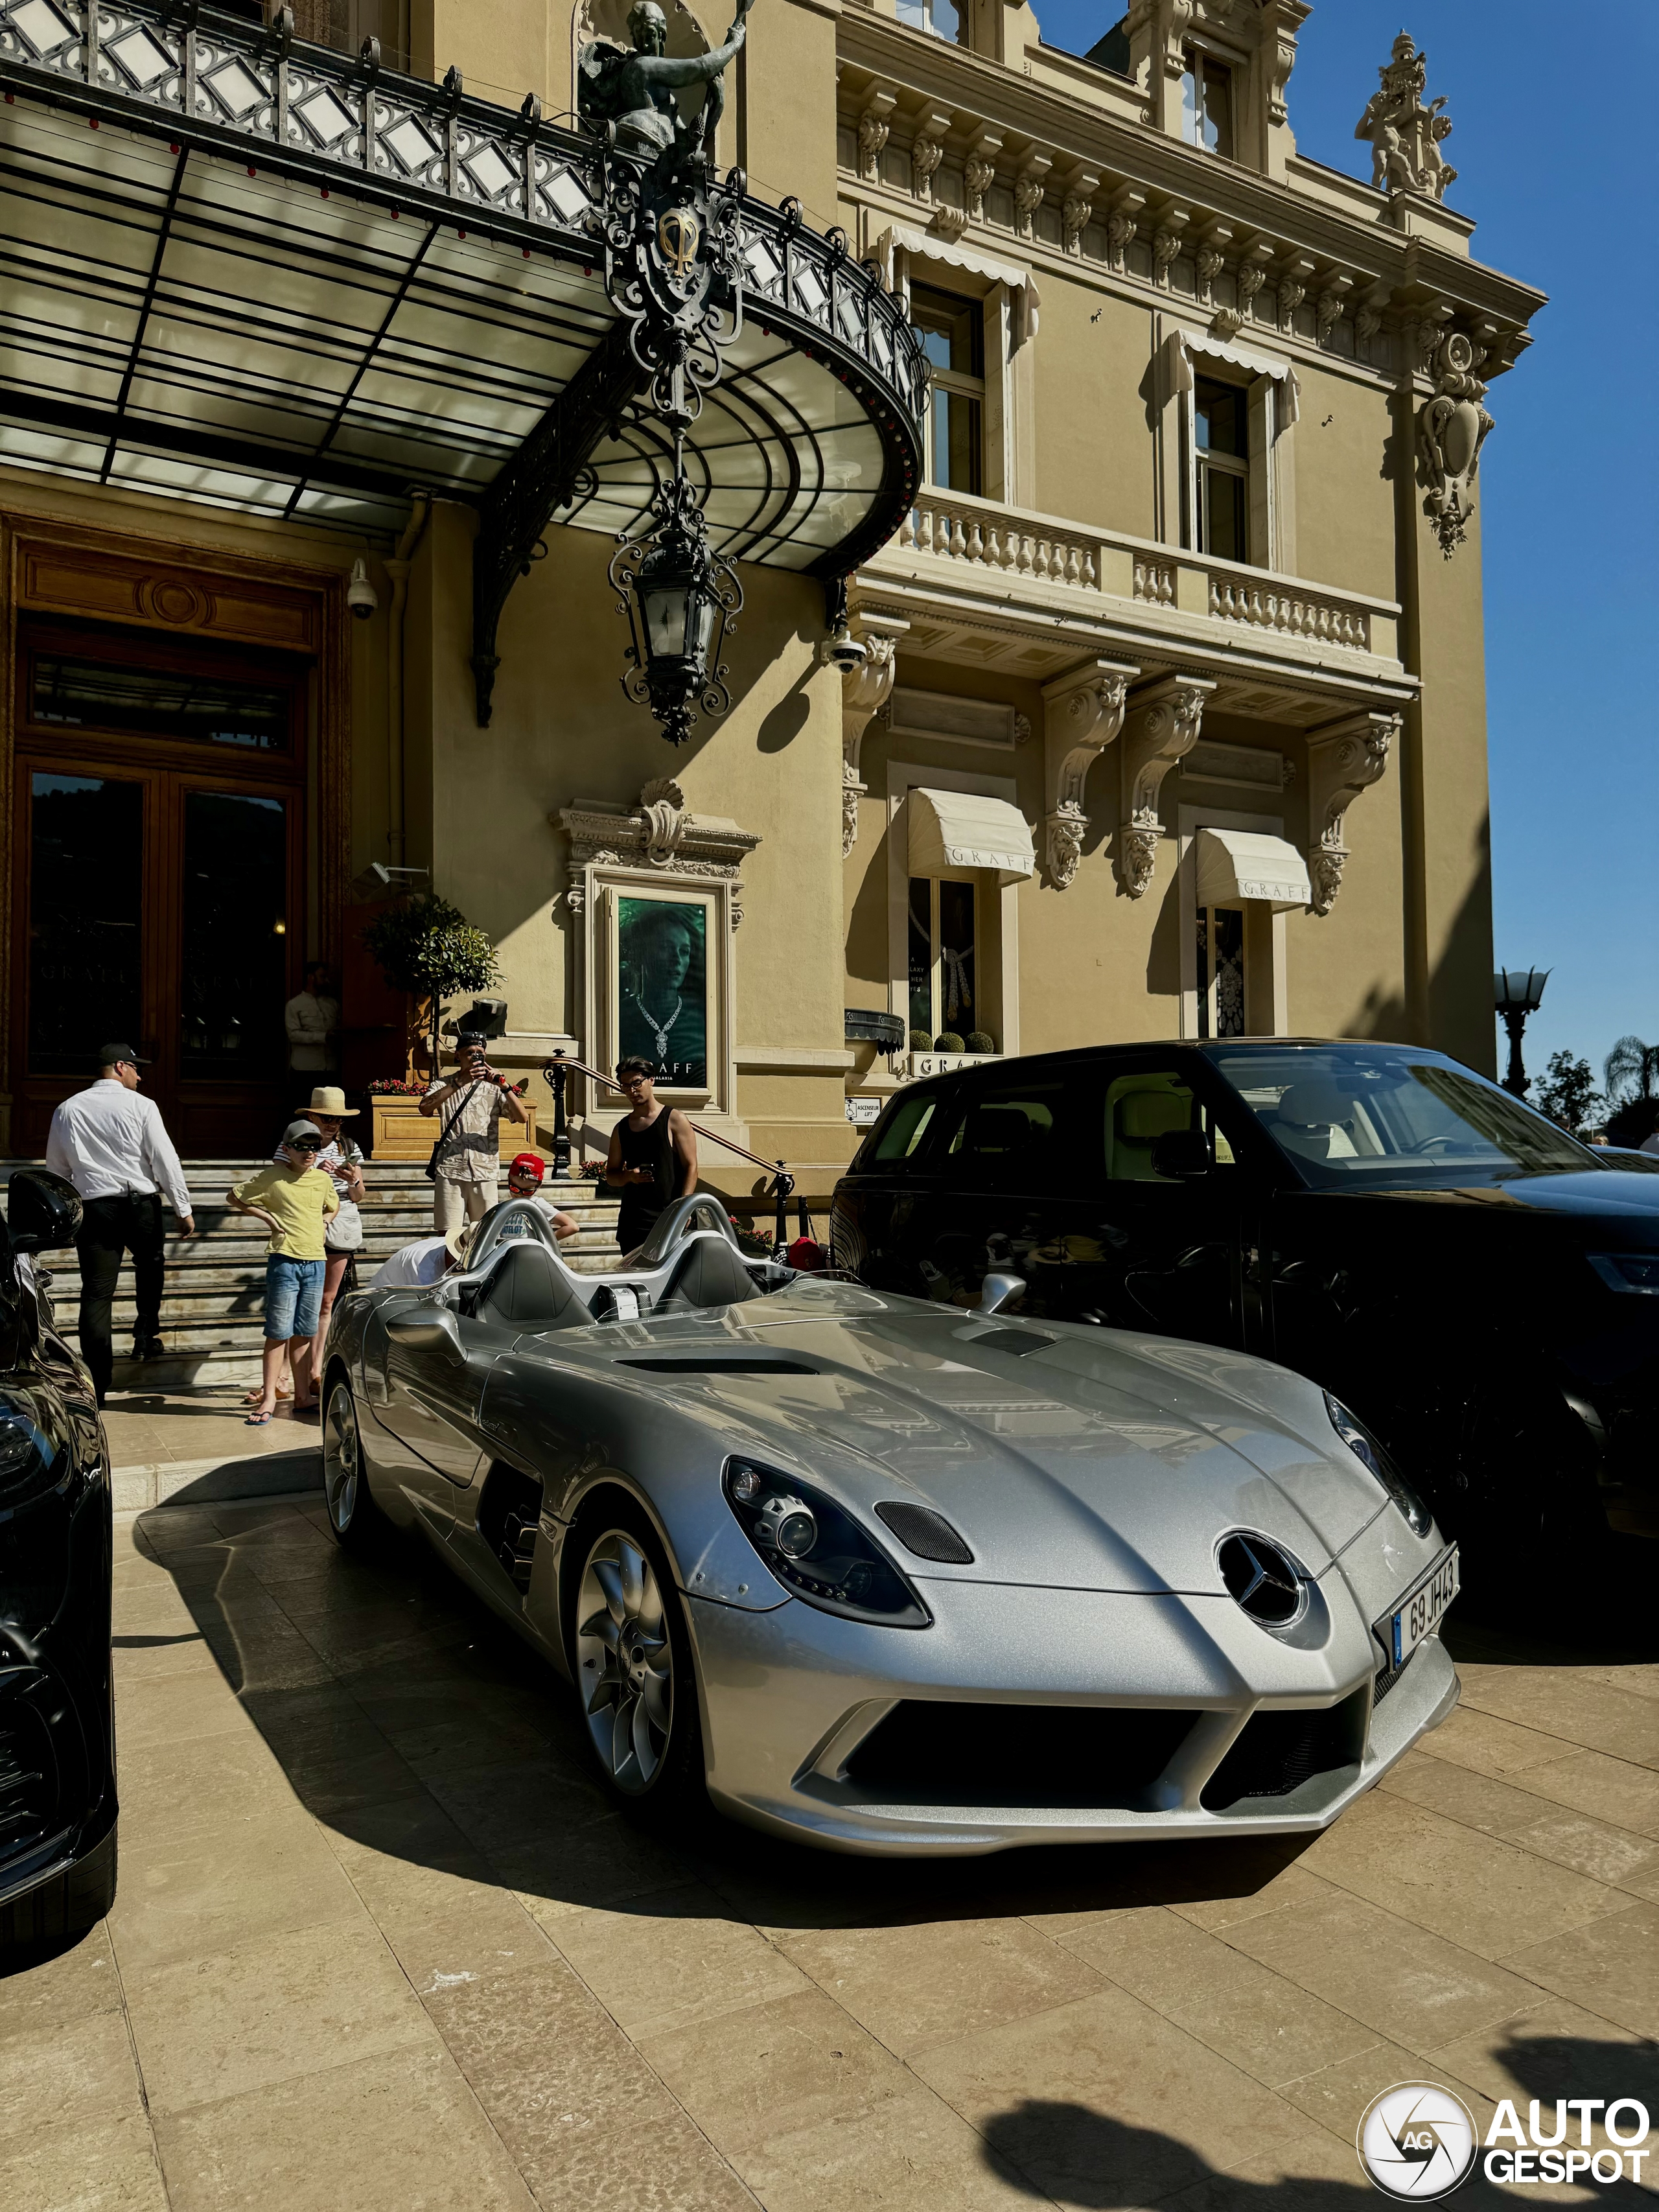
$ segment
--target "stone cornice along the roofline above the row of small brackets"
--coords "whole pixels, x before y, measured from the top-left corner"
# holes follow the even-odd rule
[[[1239,234],[1263,232],[1283,252],[1340,263],[1396,290],[1420,290],[1498,323],[1524,327],[1544,294],[1389,221],[1378,195],[1376,219],[1360,221],[1254,170],[1217,161],[1144,124],[1126,124],[1079,95],[1037,77],[1015,75],[964,46],[909,31],[883,15],[847,11],[838,29],[843,119],[856,126],[874,86],[898,93],[891,124],[909,131],[916,106],[949,108],[951,139],[967,142],[982,124],[1002,133],[1000,168],[1018,170],[1029,150],[1055,150],[1055,175],[1086,164],[1102,175],[1099,201],[1133,184],[1150,201],[1192,208],[1192,230],[1223,217]],[[958,148],[953,148],[958,150]],[[991,232],[1000,237],[1000,230]],[[1073,268],[1077,263],[1073,261]],[[1489,374],[1498,372],[1493,363]]]

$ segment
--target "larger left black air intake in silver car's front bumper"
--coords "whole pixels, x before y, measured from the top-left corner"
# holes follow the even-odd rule
[[[847,1761],[885,1805],[1146,1805],[1197,1714],[1126,1705],[902,1699]]]

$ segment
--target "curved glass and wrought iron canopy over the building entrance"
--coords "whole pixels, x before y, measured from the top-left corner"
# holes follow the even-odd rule
[[[557,509],[641,522],[670,440],[624,420],[593,144],[533,100],[192,0],[0,0],[0,460],[352,533],[414,487],[473,504],[484,661]],[[686,447],[710,542],[845,575],[920,482],[927,367],[792,204],[743,195],[737,248],[743,338]]]

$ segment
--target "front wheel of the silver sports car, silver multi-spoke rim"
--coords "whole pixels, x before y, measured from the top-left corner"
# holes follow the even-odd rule
[[[646,1515],[615,1504],[577,1531],[571,1674],[611,1790],[666,1805],[701,1785],[690,1637]]]

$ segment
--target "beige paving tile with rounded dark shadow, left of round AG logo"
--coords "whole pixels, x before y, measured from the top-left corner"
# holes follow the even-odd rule
[[[914,2070],[1051,2197],[1135,2203],[1283,2152],[1287,2108],[1126,1989],[920,2053]]]

